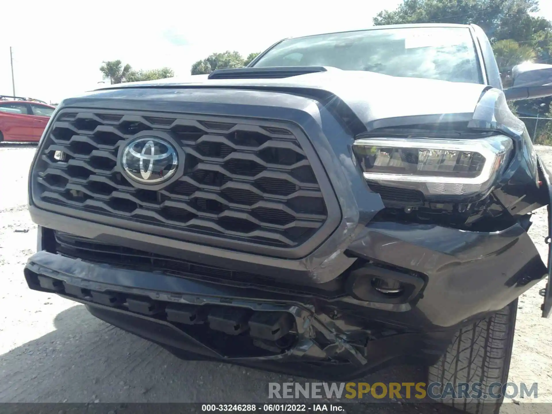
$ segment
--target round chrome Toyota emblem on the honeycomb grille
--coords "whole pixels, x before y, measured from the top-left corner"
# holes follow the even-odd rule
[[[178,155],[169,142],[155,136],[142,136],[126,144],[121,163],[134,181],[160,184],[177,171]]]

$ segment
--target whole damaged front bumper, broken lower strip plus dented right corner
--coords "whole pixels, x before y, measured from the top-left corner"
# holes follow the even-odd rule
[[[344,291],[333,296],[112,266],[101,245],[91,246],[95,261],[34,254],[24,271],[29,287],[86,304],[94,316],[193,359],[327,379],[390,362],[432,364],[459,326],[501,309],[546,274],[520,225],[479,233],[371,223],[347,253],[365,264],[337,278]],[[423,283],[395,302],[362,298],[367,292],[351,280],[374,272],[373,258],[414,269],[404,280]]]

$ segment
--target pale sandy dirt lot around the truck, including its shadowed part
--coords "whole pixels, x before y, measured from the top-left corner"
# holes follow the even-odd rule
[[[0,144],[0,402],[263,402],[268,382],[289,379],[227,364],[179,360],[95,319],[82,305],[29,290],[22,269],[36,250],[36,225],[26,208],[26,177],[34,151],[33,146]],[[552,167],[552,147],[538,151]],[[530,229],[545,260],[546,220],[546,210],[537,211]],[[538,401],[552,402],[551,322],[540,317],[539,290],[544,285],[539,283],[519,300],[509,380],[538,382]],[[423,380],[423,370],[416,367],[385,369],[365,379],[417,380]],[[522,404],[505,404],[501,412],[549,412],[546,405],[528,411],[527,399],[517,402]],[[435,411],[434,405],[411,408]]]

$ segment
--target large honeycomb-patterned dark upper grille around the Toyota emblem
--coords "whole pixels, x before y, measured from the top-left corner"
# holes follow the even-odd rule
[[[177,181],[151,190],[125,178],[119,147],[140,131],[163,131],[184,148]],[[65,110],[41,146],[33,197],[123,223],[179,230],[184,240],[194,234],[298,247],[326,222],[327,210],[292,131],[269,121]],[[59,151],[65,153],[61,160]]]

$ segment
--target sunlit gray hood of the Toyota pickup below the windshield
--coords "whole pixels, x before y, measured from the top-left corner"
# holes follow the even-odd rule
[[[484,84],[407,78],[366,71],[324,71],[285,78],[209,79],[189,75],[157,81],[120,83],[97,89],[209,88],[281,91],[341,100],[365,125],[376,120],[424,115],[473,114]],[[437,121],[439,120],[437,116]]]

